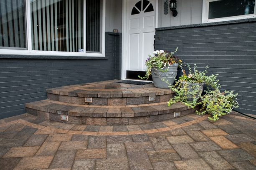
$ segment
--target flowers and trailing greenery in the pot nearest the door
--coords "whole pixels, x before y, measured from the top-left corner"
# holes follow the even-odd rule
[[[166,67],[169,67],[170,65],[174,63],[181,64],[182,61],[174,56],[178,50],[178,47],[175,49],[174,52],[168,53],[164,50],[157,50],[153,52],[153,55],[149,55],[149,57],[146,60],[146,75],[144,77],[138,76],[140,79],[148,79],[151,75],[151,69],[153,67],[158,68],[162,72],[166,72],[168,69],[165,69]]]

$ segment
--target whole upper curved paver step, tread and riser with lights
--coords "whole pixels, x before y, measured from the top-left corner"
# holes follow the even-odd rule
[[[84,105],[134,105],[169,101],[174,92],[153,84],[134,85],[114,80],[46,89],[50,100]],[[155,98],[150,100],[150,98]]]

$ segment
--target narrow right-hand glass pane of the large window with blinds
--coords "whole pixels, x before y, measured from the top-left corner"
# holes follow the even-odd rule
[[[86,0],[86,52],[102,52],[102,0]]]

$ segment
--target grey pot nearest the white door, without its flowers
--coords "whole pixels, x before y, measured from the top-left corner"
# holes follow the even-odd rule
[[[178,66],[178,63],[172,64],[169,67],[164,67],[162,69],[164,71],[161,71],[157,67],[153,67],[151,69],[151,76],[154,86],[162,89],[169,88],[168,86],[172,85],[175,81]],[[167,81],[168,83],[166,83],[165,81]]]

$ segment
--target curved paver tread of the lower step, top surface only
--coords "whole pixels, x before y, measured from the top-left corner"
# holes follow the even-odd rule
[[[66,103],[43,100],[26,103],[25,106],[28,109],[34,109],[37,111],[82,117],[139,117],[191,110],[191,108],[188,108],[188,106],[185,106],[182,103],[176,103],[170,107],[167,106],[167,103],[158,103],[157,105],[148,104],[142,106],[133,105],[131,107],[106,107],[81,106],[75,104],[66,105]]]

